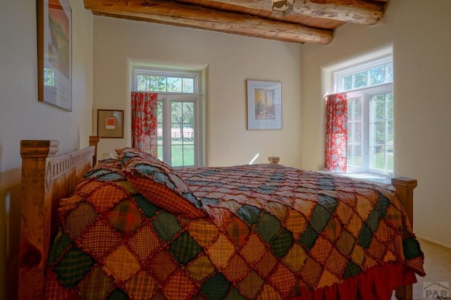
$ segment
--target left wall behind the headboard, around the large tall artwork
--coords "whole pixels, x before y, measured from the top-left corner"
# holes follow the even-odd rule
[[[36,1],[0,1],[0,299],[14,299],[17,289],[20,139],[59,139],[61,151],[70,151],[87,146],[92,134],[92,14],[82,1],[69,2],[70,113],[37,101]]]

